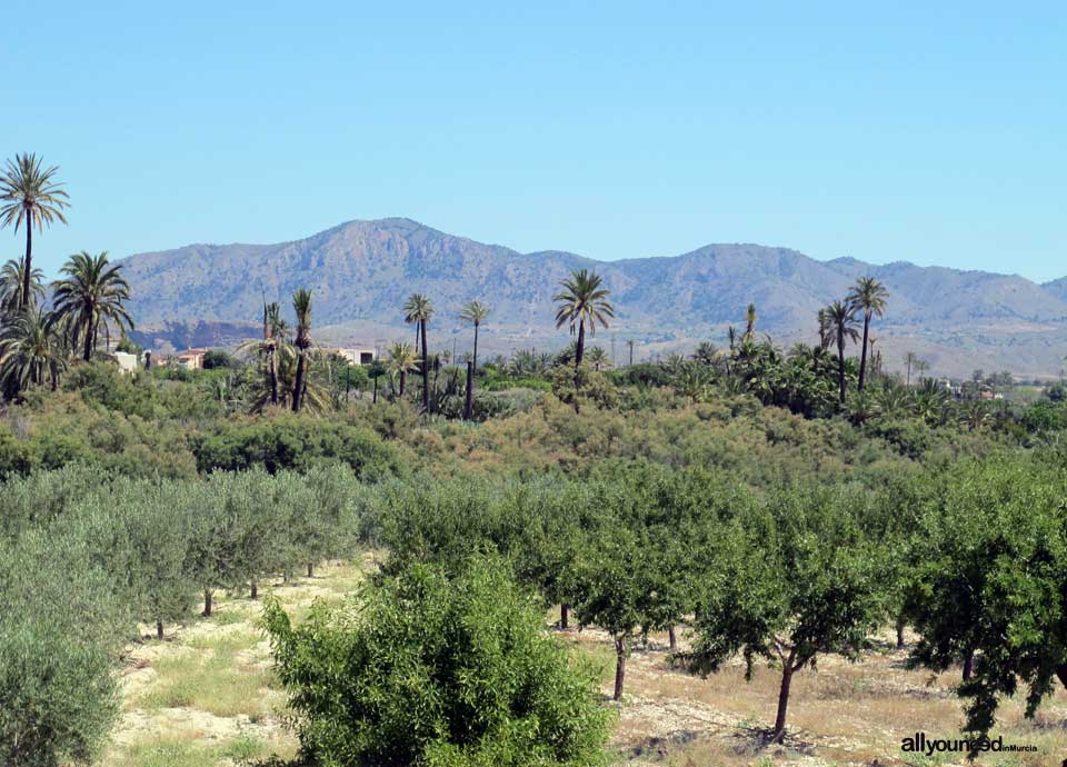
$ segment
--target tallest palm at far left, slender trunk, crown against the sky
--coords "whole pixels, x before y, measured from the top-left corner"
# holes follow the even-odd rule
[[[22,293],[20,309],[29,305],[33,295],[33,226],[42,231],[54,221],[67,223],[63,209],[69,208],[69,196],[63,185],[54,180],[58,167],[41,168],[37,155],[16,155],[0,175],[0,226],[14,223],[14,231],[26,221],[26,255],[22,257]]]

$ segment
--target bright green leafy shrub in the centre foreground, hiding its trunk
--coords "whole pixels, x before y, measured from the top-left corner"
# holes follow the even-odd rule
[[[266,625],[316,764],[579,767],[602,764],[596,675],[546,636],[495,559],[456,580],[415,565],[293,629]]]

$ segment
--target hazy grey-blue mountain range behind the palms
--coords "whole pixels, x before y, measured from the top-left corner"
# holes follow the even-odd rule
[[[411,292],[437,309],[431,343],[465,349],[470,329],[457,315],[470,300],[491,307],[480,338],[487,353],[552,348],[552,295],[569,271],[595,269],[611,290],[616,321],[594,339],[635,340],[637,358],[721,343],[744,323],[749,302],[759,331],[788,345],[816,337],[819,307],[861,276],[889,291],[876,320],[876,349],[890,369],[916,351],[938,375],[1011,370],[1056,376],[1067,351],[1067,278],[1023,277],[898,261],[820,261],[788,248],[708,245],[674,257],[597,261],[566,251],[520,253],[448,235],[405,218],[350,221],[278,245],[190,245],[122,261],[132,290],[137,338],[167,349],[232,345],[257,333],[263,299],[288,303],[310,288],[316,336],[373,346],[413,336],[401,306]],[[435,338],[436,336],[436,338]],[[621,360],[621,346],[617,350]]]

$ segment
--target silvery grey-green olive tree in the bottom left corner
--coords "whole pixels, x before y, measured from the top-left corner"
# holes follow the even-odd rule
[[[130,615],[86,539],[30,531],[0,549],[0,764],[90,761],[119,710]]]

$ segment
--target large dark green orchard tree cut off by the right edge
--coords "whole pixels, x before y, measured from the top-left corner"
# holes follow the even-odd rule
[[[1055,461],[995,456],[956,465],[923,515],[909,617],[913,660],[963,661],[966,728],[987,733],[1001,697],[1027,687],[1027,716],[1067,686],[1067,485]]]

